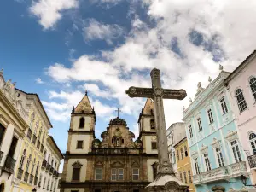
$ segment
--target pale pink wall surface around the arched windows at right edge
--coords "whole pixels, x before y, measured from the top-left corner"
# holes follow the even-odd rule
[[[238,135],[241,140],[241,146],[246,152],[247,156],[253,155],[253,148],[249,141],[249,135],[251,133],[256,134],[256,100],[253,97],[253,90],[249,84],[251,78],[256,78],[255,54],[253,54],[249,60],[242,65],[241,69],[238,69],[238,72],[232,76],[232,79],[230,79],[227,84],[230,101],[232,102],[231,108],[236,117],[236,124],[238,126]],[[243,112],[240,112],[237,104],[237,89],[242,90],[243,96],[247,103],[247,109],[245,109]],[[256,156],[253,157],[253,160],[256,160]],[[249,164],[247,164],[247,167],[249,169]],[[252,169],[251,172],[253,184],[256,184],[256,171]]]

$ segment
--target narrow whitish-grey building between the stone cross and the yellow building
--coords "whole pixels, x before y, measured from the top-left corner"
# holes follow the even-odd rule
[[[185,124],[182,122],[172,124],[166,130],[166,136],[167,136],[169,159],[170,159],[170,162],[172,163],[172,167],[175,172],[175,175],[178,177],[177,160],[176,160],[177,158],[176,158],[176,150],[174,148],[174,145],[186,137]]]

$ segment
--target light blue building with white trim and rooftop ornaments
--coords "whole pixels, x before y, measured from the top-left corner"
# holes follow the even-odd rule
[[[238,139],[235,115],[230,108],[221,72],[207,88],[198,84],[195,100],[183,108],[189,143],[193,183],[197,192],[241,191],[241,175],[248,176],[247,157]],[[251,183],[247,179],[247,184]]]

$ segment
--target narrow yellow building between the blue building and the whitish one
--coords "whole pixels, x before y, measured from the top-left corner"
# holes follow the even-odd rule
[[[187,137],[183,138],[174,145],[177,158],[177,172],[183,183],[189,185],[189,191],[195,192],[195,186],[192,181],[192,167],[189,158],[189,147]]]

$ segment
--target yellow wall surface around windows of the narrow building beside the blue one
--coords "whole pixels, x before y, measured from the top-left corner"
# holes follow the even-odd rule
[[[181,158],[181,148],[183,149],[183,159]],[[187,155],[185,154],[185,148],[187,148]],[[189,185],[189,191],[195,192],[195,186],[193,184],[193,171],[192,171],[192,166],[190,162],[190,157],[189,157],[189,146],[188,146],[188,141],[187,139],[184,139],[182,142],[177,143],[175,146],[176,154],[179,153],[180,160],[177,160],[177,177],[180,178],[180,173],[182,174],[183,177],[183,183],[186,183]],[[187,182],[185,182],[184,179],[184,172],[186,172],[186,178]],[[190,172],[190,179],[189,179],[189,172]]]

